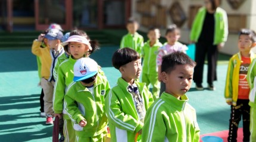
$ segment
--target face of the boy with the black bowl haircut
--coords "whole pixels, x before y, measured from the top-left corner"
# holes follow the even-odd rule
[[[138,79],[141,75],[141,59],[124,64],[120,67],[120,72],[125,80]]]

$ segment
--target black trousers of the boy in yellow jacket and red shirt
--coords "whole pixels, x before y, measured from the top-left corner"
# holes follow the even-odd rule
[[[243,141],[249,141],[250,137],[250,106],[249,99],[238,99],[236,106],[231,106],[231,114],[229,120],[229,137],[227,141],[236,142],[238,137],[238,124],[243,118]]]

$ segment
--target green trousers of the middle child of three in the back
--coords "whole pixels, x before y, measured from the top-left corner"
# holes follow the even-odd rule
[[[153,86],[152,95],[154,100],[159,98],[160,92],[160,82],[158,81],[158,74],[148,75],[146,73],[142,73],[142,82],[146,83],[147,88],[149,89],[150,83]]]

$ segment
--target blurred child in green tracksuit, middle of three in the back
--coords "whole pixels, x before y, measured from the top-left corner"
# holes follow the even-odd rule
[[[142,47],[142,82],[148,86],[153,86],[152,94],[154,100],[158,98],[160,92],[160,82],[157,73],[157,53],[158,49],[163,46],[158,40],[160,38],[160,30],[158,28],[150,28],[148,31],[149,40]]]

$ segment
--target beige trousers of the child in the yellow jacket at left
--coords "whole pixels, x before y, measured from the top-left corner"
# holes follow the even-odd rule
[[[41,85],[43,88],[43,93],[45,96],[43,96],[43,101],[45,102],[45,114],[46,116],[54,115],[54,110],[52,109],[52,98],[54,95],[54,81],[48,82],[45,78],[41,79]]]

